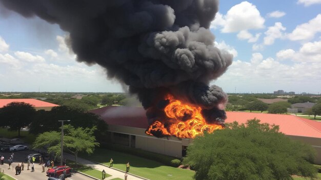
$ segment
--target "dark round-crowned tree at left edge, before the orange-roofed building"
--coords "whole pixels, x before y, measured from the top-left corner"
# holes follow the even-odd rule
[[[18,131],[18,136],[20,136],[20,129],[32,122],[35,111],[28,103],[12,102],[2,108],[0,116],[3,125],[9,126],[10,131]]]

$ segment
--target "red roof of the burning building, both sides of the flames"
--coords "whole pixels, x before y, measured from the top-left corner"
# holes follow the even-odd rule
[[[148,121],[143,108],[109,106],[91,110],[100,115],[107,124],[129,126],[135,128],[148,128]],[[249,112],[226,112],[226,123],[234,121],[239,124],[246,123],[248,119],[259,119],[261,123],[278,125],[280,132],[294,136],[308,136],[321,138],[321,122],[301,118],[294,115],[266,114]]]

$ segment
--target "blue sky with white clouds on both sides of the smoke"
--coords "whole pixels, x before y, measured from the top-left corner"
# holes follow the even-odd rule
[[[321,0],[220,1],[215,46],[234,55],[211,84],[226,92],[321,93]],[[103,68],[75,61],[67,32],[0,8],[0,92],[122,92]]]

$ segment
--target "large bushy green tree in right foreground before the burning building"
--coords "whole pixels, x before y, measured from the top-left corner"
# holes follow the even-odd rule
[[[196,180],[292,179],[291,175],[315,177],[314,157],[311,146],[252,119],[197,136],[183,164],[196,171]]]

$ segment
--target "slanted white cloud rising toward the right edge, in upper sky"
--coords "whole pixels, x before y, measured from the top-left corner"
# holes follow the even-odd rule
[[[308,23],[296,26],[292,33],[288,34],[291,41],[309,40],[317,32],[321,32],[321,14],[311,19]]]

